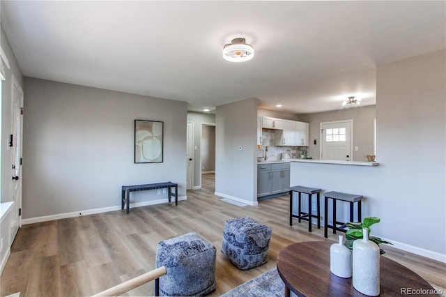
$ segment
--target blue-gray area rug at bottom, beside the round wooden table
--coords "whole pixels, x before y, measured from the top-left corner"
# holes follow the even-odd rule
[[[258,277],[240,284],[240,286],[226,292],[220,297],[283,297],[285,284],[277,273],[277,268],[259,275]]]

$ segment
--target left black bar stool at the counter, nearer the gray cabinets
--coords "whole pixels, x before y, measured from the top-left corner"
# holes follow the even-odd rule
[[[293,192],[298,192],[298,215],[293,215]],[[302,212],[300,208],[300,195],[302,193],[308,195],[308,213]],[[312,214],[312,196],[317,194],[316,197],[316,211],[317,215]],[[308,221],[308,231],[312,231],[312,218],[318,219],[318,229],[321,229],[321,206],[319,205],[319,196],[321,194],[321,189],[307,188],[297,185],[295,187],[290,187],[290,226],[293,226],[293,217],[300,220]]]

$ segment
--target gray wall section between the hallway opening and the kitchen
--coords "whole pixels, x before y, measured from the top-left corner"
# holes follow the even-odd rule
[[[215,114],[215,192],[249,205],[257,205],[257,102],[220,105]]]

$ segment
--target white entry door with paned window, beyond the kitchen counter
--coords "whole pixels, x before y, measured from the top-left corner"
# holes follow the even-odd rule
[[[321,123],[321,160],[352,160],[352,125],[352,120]]]

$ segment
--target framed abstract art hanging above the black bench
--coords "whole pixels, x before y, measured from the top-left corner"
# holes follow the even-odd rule
[[[162,162],[163,122],[134,120],[134,162]]]

